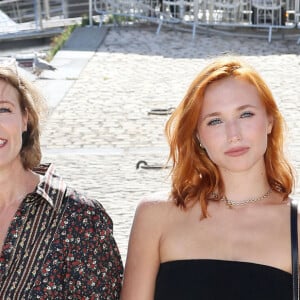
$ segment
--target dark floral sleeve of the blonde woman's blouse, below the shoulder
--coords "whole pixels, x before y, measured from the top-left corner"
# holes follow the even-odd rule
[[[96,201],[89,203],[76,219],[79,223],[75,221],[72,228],[77,228],[78,234],[73,234],[74,242],[68,251],[67,274],[72,276],[71,280],[65,278],[67,293],[73,299],[119,299],[123,265],[112,220]]]

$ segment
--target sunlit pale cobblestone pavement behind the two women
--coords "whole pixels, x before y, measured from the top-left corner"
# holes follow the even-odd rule
[[[162,28],[157,36],[155,29],[109,29],[55,103],[42,134],[43,161],[54,162],[71,185],[104,205],[124,261],[136,205],[145,195],[169,188],[167,169],[136,169],[139,160],[163,164],[168,155],[163,133],[168,116],[148,112],[176,106],[210,58],[239,54],[266,79],[286,117],[289,155],[300,170],[296,40],[268,44],[266,39],[198,33],[193,41],[190,32]],[[56,90],[51,93],[55,96]]]

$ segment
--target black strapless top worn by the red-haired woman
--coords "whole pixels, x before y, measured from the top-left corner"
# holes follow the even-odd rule
[[[155,300],[292,300],[292,275],[248,262],[214,259],[162,263]]]

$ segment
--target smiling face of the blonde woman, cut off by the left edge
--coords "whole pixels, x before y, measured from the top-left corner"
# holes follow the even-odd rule
[[[22,132],[27,129],[27,114],[22,114],[18,91],[0,80],[0,171],[20,161]]]

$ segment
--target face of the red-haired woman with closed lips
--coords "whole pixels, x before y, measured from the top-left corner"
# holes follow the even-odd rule
[[[206,89],[198,136],[221,173],[243,172],[264,167],[272,124],[256,88],[246,81],[226,78]]]

